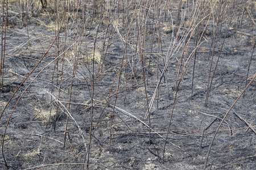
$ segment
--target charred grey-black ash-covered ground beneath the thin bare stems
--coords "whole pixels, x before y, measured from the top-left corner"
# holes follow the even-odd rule
[[[57,35],[49,26],[51,20],[47,16],[46,12],[40,11],[26,25],[20,24],[18,16],[12,15],[9,19],[9,24],[13,23],[13,26],[8,27],[6,32],[1,111],[16,88],[46,54]],[[45,24],[39,23],[39,19]],[[71,27],[73,23],[71,20],[68,26]],[[253,57],[247,84],[256,73],[255,50],[252,54],[255,25],[248,18],[243,20],[241,28],[235,27],[235,23],[229,28],[228,24],[223,24],[212,52],[213,23],[209,22],[196,51],[194,75],[195,56],[191,60],[189,58],[196,46],[196,37],[192,36],[185,62],[181,62],[188,65],[186,73],[180,78],[184,71],[180,69],[176,81],[180,56],[187,46],[185,41],[180,41],[180,48],[171,55],[170,46],[178,40],[173,36],[177,29],[172,30],[164,24],[163,28],[166,29],[162,31],[160,50],[159,37],[154,33],[153,27],[147,28],[149,31],[143,49],[148,104],[154,96],[157,77],[160,80],[166,65],[166,57],[171,57],[166,74],[161,79],[158,95],[153,99],[150,131],[148,118],[144,118],[147,113],[147,100],[142,55],[139,55],[142,51],[139,46],[142,44],[137,41],[139,28],[132,29],[123,55],[126,29],[123,30],[121,26],[116,29],[114,25],[118,24],[113,21],[109,28],[110,34],[107,33],[108,38],[104,42],[106,24],[98,26],[97,22],[92,22],[92,26],[88,26],[89,31],[82,33],[84,38],[81,38],[78,31],[60,31],[59,39],[16,91],[3,112],[0,120],[1,141],[11,115],[3,145],[3,153],[10,169],[82,169],[86,168],[88,155],[89,169],[203,169],[210,144],[222,118],[245,89],[251,55]],[[183,39],[184,35],[180,36],[180,40]],[[93,66],[90,59],[93,49],[95,58],[96,53],[102,53],[104,63],[95,59]],[[219,54],[220,59],[205,107],[212,53],[210,79]],[[119,74],[123,57],[123,69]],[[176,88],[179,80],[179,88]],[[225,117],[209,152],[207,169],[254,169],[255,86],[253,80]],[[24,95],[19,100],[23,92]],[[12,113],[18,100],[19,103]],[[65,138],[67,115],[69,118]],[[0,169],[5,168],[5,160],[1,154]]]

